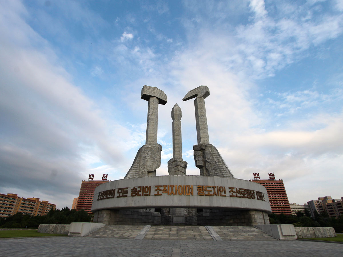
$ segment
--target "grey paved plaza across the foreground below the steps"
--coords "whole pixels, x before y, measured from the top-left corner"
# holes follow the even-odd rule
[[[343,244],[308,241],[177,241],[67,236],[2,239],[0,249],[2,257],[343,256]]]

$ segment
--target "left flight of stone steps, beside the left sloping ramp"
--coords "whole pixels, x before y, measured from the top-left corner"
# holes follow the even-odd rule
[[[130,225],[107,225],[99,228],[92,233],[86,235],[86,237],[107,237],[107,238],[126,238],[134,239],[138,233],[144,228],[141,226],[130,226]]]

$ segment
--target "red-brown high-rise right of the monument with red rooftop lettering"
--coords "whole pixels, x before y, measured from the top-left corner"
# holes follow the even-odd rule
[[[263,185],[267,188],[268,198],[272,213],[292,215],[291,206],[289,205],[286,189],[281,180],[275,180],[274,173],[268,173],[269,179],[260,179],[259,173],[253,173],[253,182]]]

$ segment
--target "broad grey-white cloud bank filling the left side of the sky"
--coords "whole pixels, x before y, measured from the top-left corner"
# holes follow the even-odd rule
[[[78,194],[90,157],[92,162],[130,166],[123,156],[123,142],[110,129],[130,131],[106,120],[97,104],[56,64],[58,58],[46,41],[14,10],[12,15],[6,10],[0,11],[0,166],[6,171],[1,188],[25,188],[24,197],[39,188],[54,203],[56,192],[63,192],[61,198]],[[32,42],[44,45],[44,51]]]

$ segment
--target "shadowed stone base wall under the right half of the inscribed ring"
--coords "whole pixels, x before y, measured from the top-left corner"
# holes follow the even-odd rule
[[[269,224],[268,214],[264,211],[230,211],[225,209],[203,209],[197,214],[198,225],[212,226],[255,226]]]

